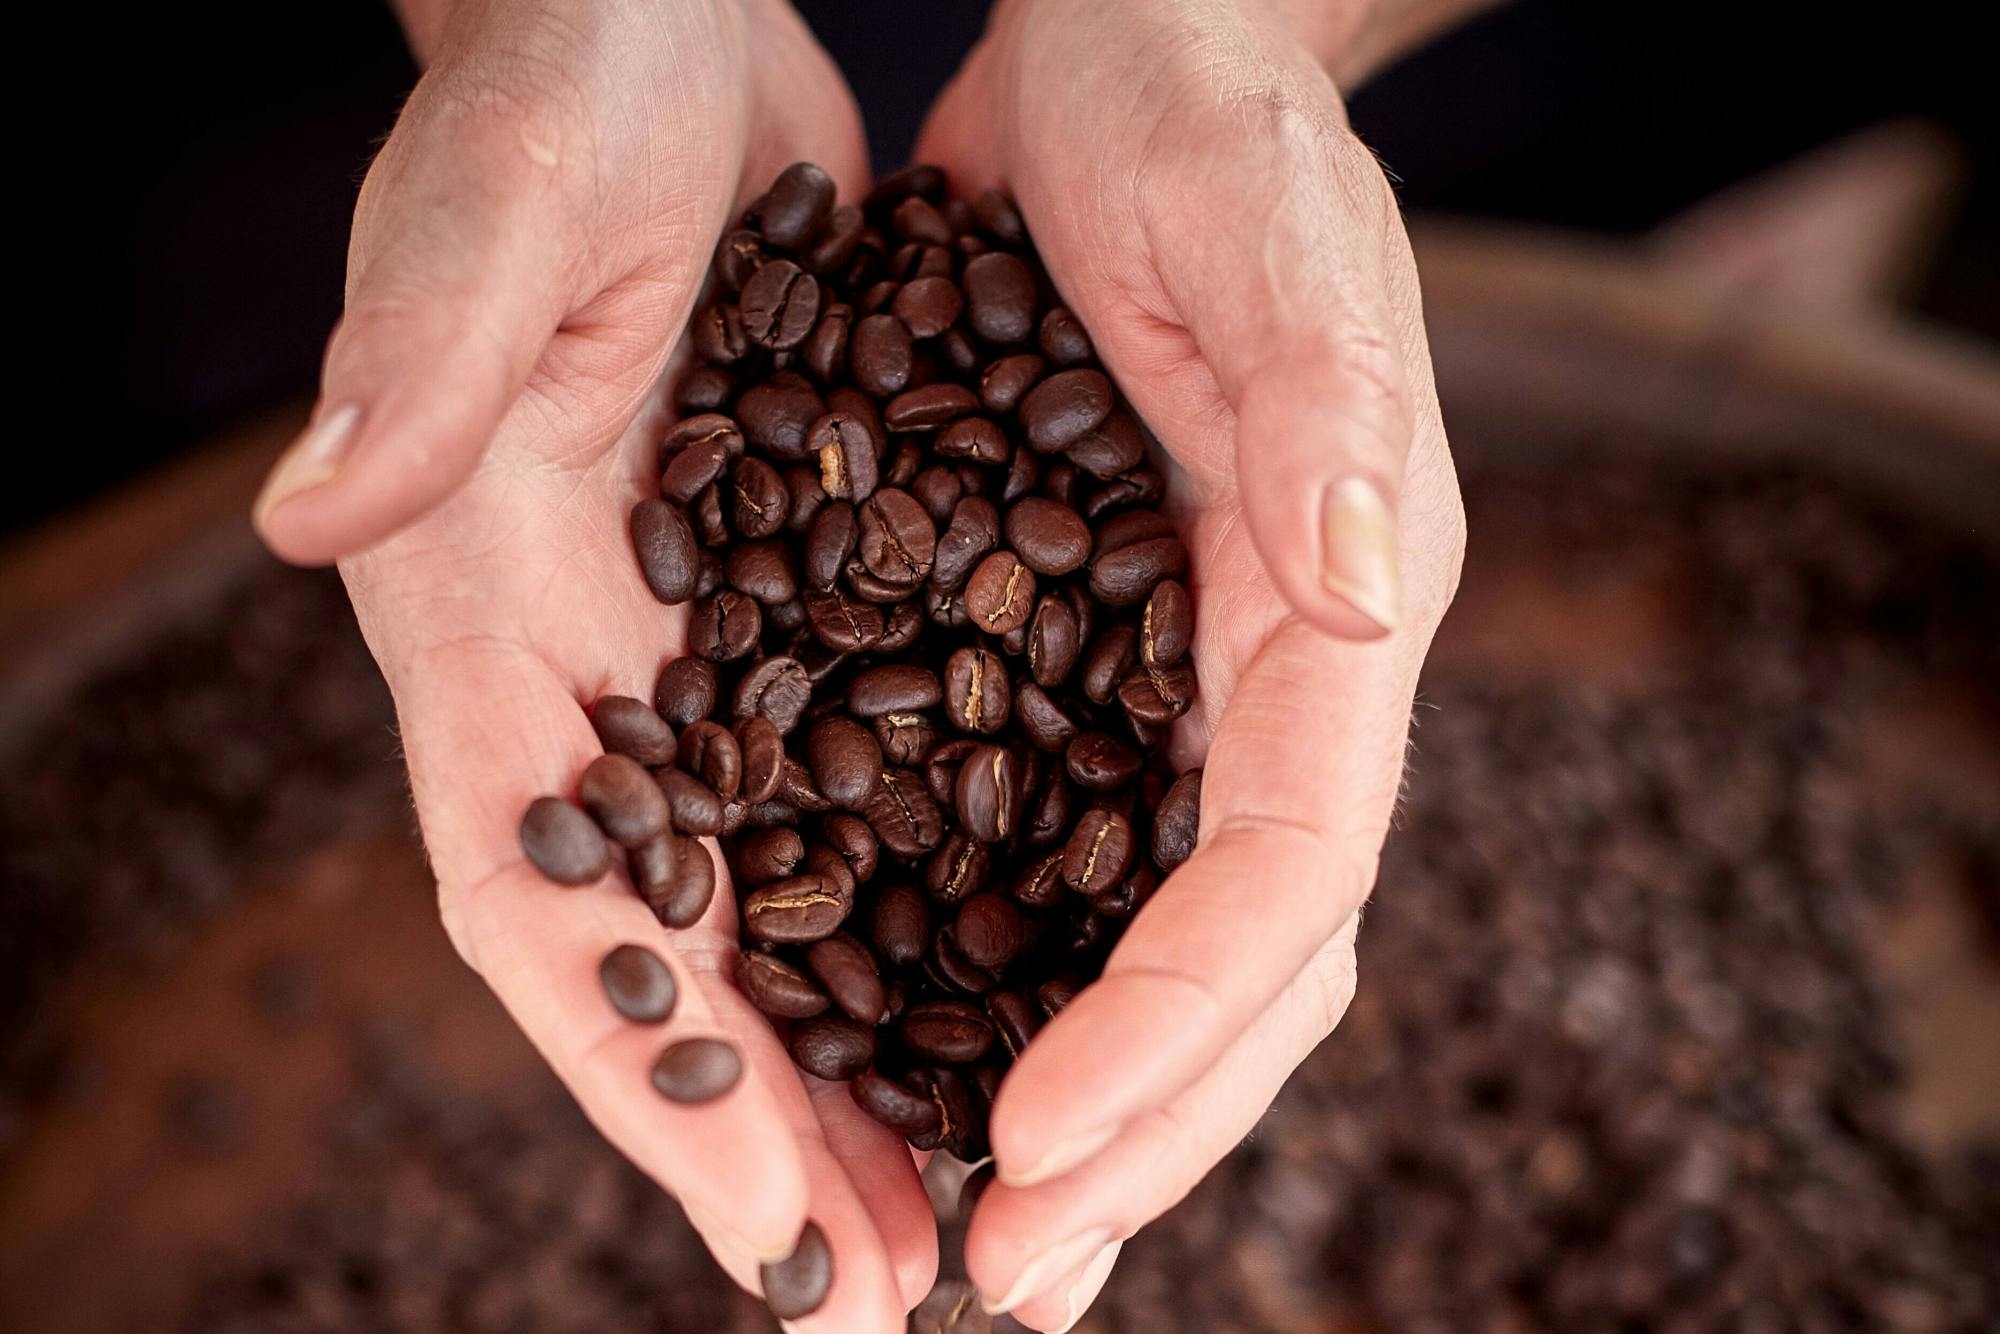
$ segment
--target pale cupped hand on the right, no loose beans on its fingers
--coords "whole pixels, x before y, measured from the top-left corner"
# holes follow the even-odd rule
[[[1396,200],[1272,10],[1004,2],[920,156],[1014,192],[1192,552],[1200,848],[1008,1074],[966,1242],[1052,1330],[1340,1020],[1464,518]]]

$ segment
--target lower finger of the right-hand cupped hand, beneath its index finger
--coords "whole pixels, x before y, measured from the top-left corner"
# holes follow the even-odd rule
[[[1012,1310],[1024,1324],[1084,1312],[1092,1274],[1054,1270],[1068,1258],[1064,1238],[1132,1236],[1250,1134],[1284,1080],[1346,1014],[1358,924],[1360,914],[1348,918],[1212,1070],[1126,1126],[1096,1158],[1038,1186],[986,1188],[966,1232],[966,1268],[992,1310]]]

